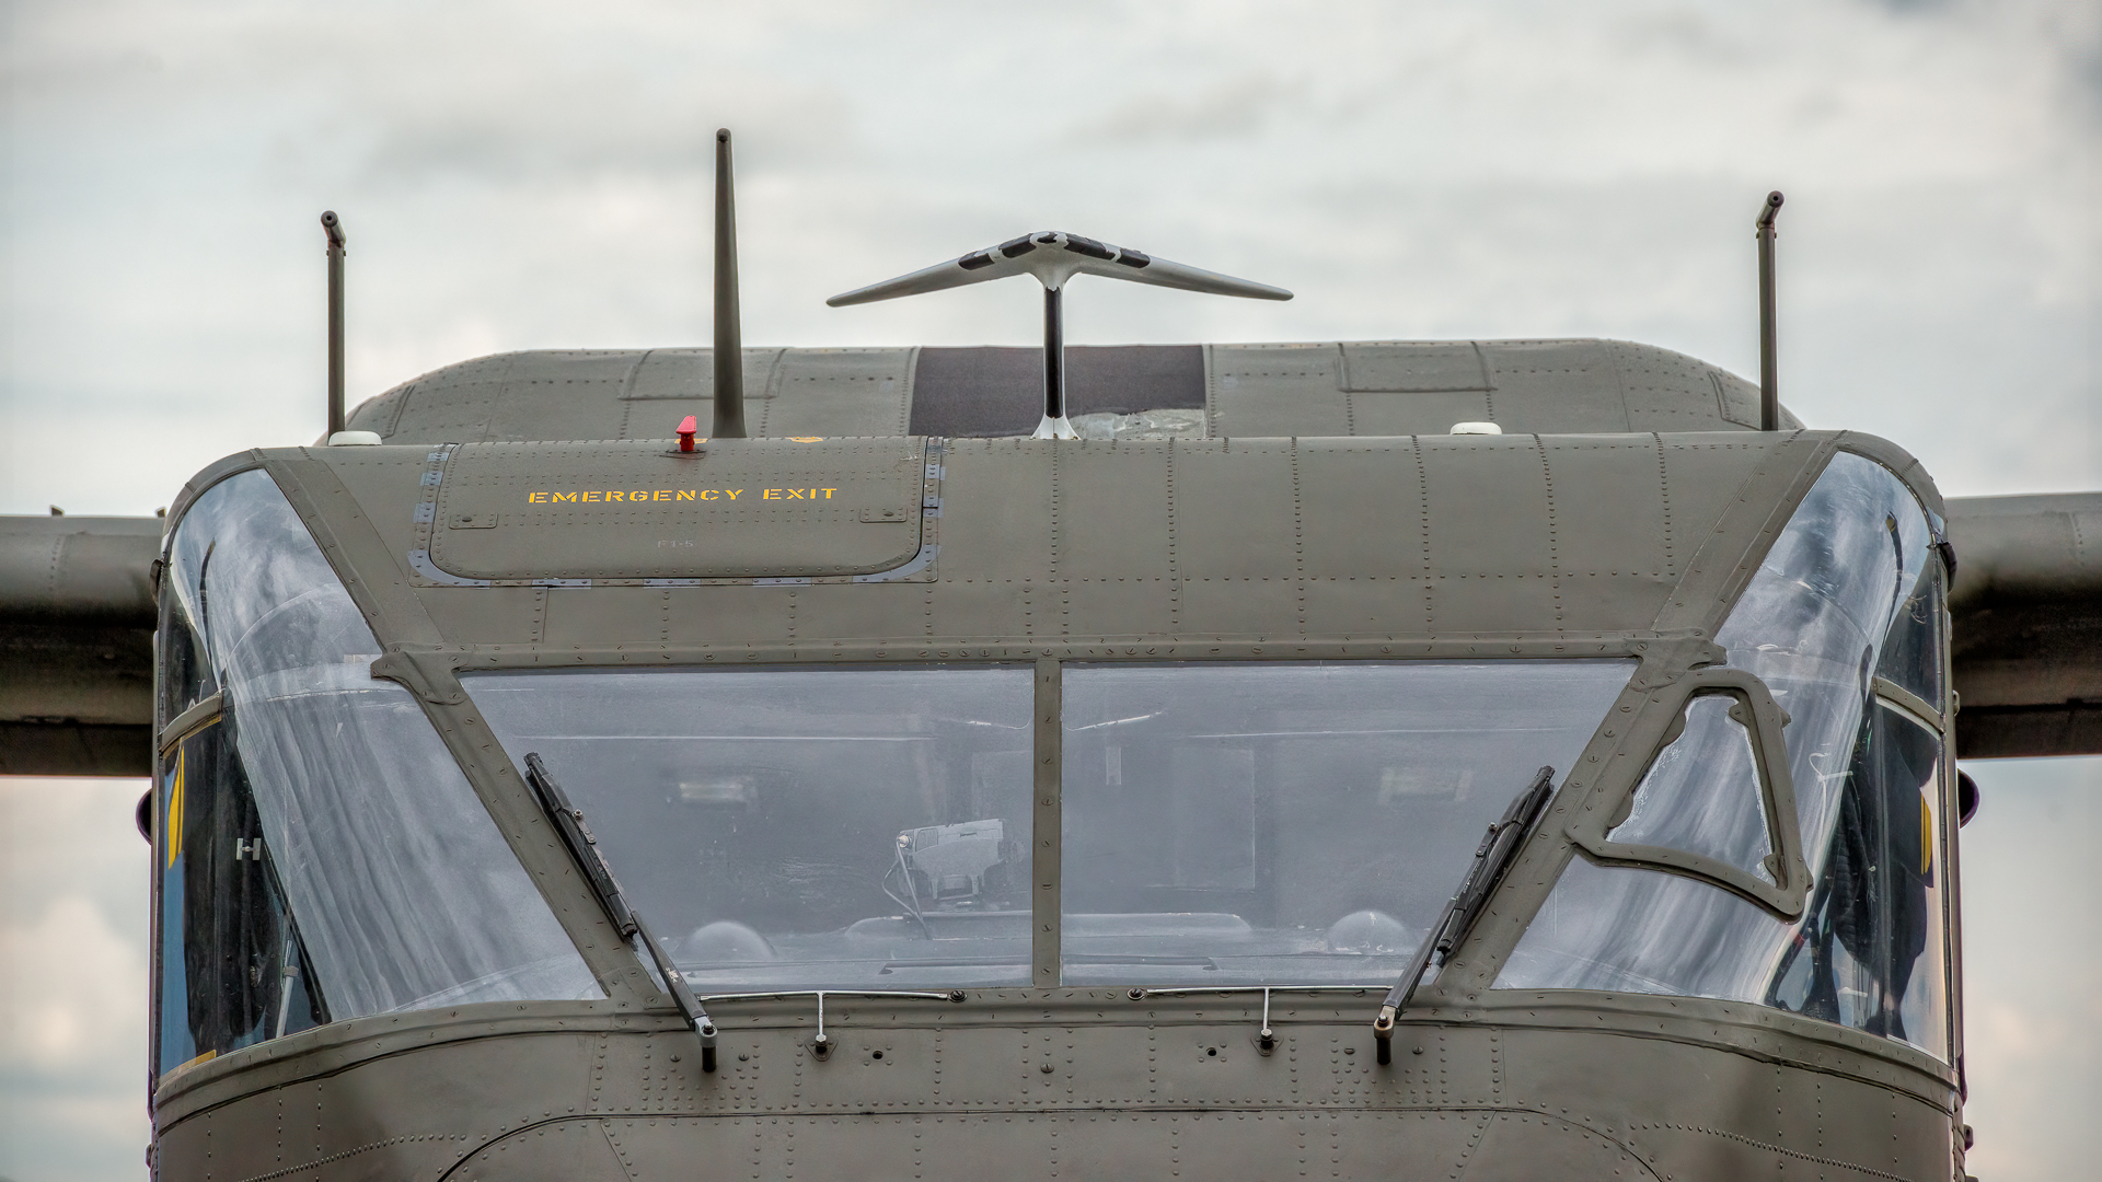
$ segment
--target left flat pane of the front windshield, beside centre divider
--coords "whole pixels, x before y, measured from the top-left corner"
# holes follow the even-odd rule
[[[465,684],[696,993],[1028,984],[1032,667]]]

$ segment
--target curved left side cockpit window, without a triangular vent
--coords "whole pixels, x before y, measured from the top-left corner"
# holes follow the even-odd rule
[[[191,505],[162,595],[174,702],[225,700],[156,784],[158,1071],[324,1016],[601,997],[269,475]]]

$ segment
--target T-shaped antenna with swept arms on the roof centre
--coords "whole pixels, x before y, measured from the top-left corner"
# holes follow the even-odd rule
[[[1156,288],[1181,288],[1186,292],[1234,294],[1246,299],[1293,299],[1293,292],[1236,280],[1202,267],[1186,267],[1167,259],[1156,259],[1129,246],[1110,246],[1078,233],[1024,233],[998,246],[973,250],[961,259],[950,259],[935,267],[898,276],[881,284],[837,294],[824,303],[845,307],[849,303],[874,303],[906,294],[940,292],[963,284],[1005,280],[1007,276],[1034,276],[1045,286],[1045,416],[1036,425],[1032,440],[1078,440],[1072,421],[1066,416],[1066,280],[1074,276],[1101,276],[1106,280],[1127,280],[1152,284]],[[721,381],[721,379],[717,379]]]

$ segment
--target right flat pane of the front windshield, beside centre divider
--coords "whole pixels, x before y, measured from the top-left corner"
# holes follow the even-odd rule
[[[1631,660],[1064,669],[1066,984],[1377,984]]]

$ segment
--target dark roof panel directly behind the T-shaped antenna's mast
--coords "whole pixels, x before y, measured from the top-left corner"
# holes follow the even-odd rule
[[[1028,435],[1045,406],[1043,349],[921,349],[912,374],[914,435]],[[1068,414],[1202,410],[1202,345],[1066,349]]]

